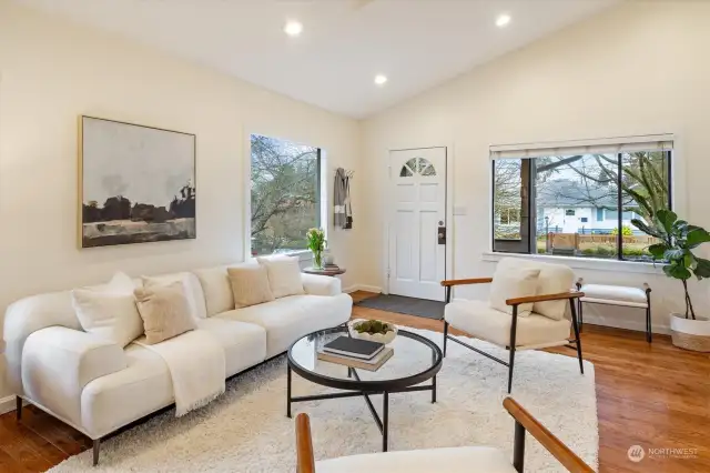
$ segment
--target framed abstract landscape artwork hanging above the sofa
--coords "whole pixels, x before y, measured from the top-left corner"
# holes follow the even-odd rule
[[[79,118],[81,248],[196,238],[194,134]]]

